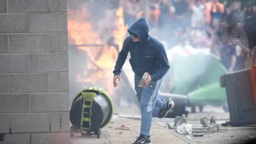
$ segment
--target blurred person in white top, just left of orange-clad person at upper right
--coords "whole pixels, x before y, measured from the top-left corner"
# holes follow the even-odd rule
[[[194,0],[191,3],[191,28],[195,28],[196,23],[204,19],[204,8],[205,6],[202,4],[202,0]]]

